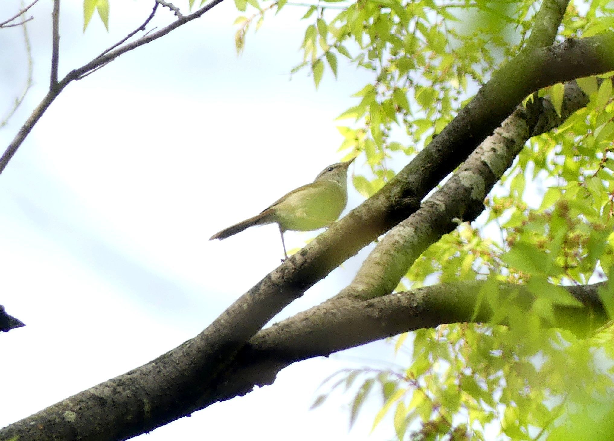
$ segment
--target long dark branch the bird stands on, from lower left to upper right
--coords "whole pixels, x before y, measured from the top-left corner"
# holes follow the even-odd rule
[[[182,20],[188,17],[192,15]],[[126,52],[130,45],[159,37],[165,29],[107,53],[86,64],[82,71],[72,71],[60,86]],[[236,353],[273,315],[413,213],[426,193],[467,158],[525,96],[561,80],[614,69],[614,60],[605,57],[612,49],[614,33],[521,52],[394,180],[267,275],[195,339],[128,374],[15,423],[0,431],[0,437],[21,434],[25,439],[38,439],[39,435],[63,440],[126,439],[201,408]],[[487,168],[493,174],[498,170],[497,164],[488,164]]]

